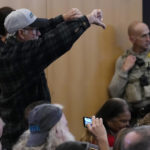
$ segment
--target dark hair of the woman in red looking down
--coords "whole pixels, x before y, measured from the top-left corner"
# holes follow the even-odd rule
[[[97,118],[103,118],[103,123],[106,130],[109,129],[107,121],[117,117],[118,115],[129,110],[129,106],[124,99],[112,98],[107,100],[100,110],[96,113]]]

